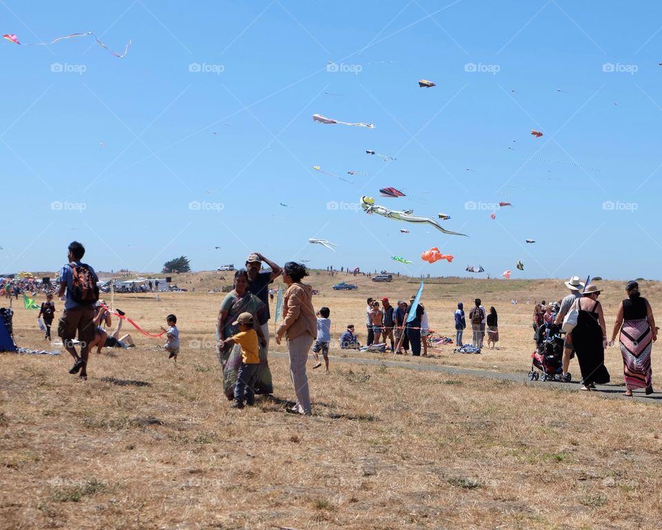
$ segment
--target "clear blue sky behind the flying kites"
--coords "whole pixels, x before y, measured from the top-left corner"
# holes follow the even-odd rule
[[[0,43],[0,272],[56,271],[78,239],[105,271],[158,271],[179,255],[213,269],[260,251],[414,275],[480,264],[493,276],[660,277],[661,6],[6,1],[0,12],[22,44]],[[87,31],[132,47],[117,59],[92,37],[28,46]],[[385,186],[407,197],[379,197]],[[365,215],[361,195],[446,213],[470,237]],[[499,201],[513,206],[492,220]],[[422,262],[432,246],[454,262]]]

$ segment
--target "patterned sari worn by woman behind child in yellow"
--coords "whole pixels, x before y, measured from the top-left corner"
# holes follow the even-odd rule
[[[223,323],[223,337],[232,337],[239,333],[239,326],[232,326],[232,322],[237,320],[241,313],[250,313],[259,325],[261,315],[265,311],[265,305],[255,295],[246,291],[245,295],[239,296],[237,291],[230,291],[228,295],[221,302],[221,309],[228,312]],[[217,331],[218,338],[218,331]],[[234,384],[237,382],[237,373],[239,366],[241,366],[241,346],[239,344],[226,344],[222,351],[217,350],[219,362],[223,369],[223,393],[228,400],[234,397]],[[256,394],[270,394],[274,391],[274,386],[271,380],[271,372],[269,370],[269,362],[267,355],[264,353],[262,346],[260,346],[260,366],[257,369],[257,381],[255,382]]]

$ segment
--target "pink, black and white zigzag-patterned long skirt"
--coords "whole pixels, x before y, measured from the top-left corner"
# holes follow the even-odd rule
[[[629,390],[651,386],[653,371],[650,352],[653,349],[653,337],[648,320],[625,320],[620,342],[625,386]]]

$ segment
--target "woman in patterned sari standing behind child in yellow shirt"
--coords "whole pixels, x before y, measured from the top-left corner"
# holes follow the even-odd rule
[[[225,344],[223,340],[239,333],[239,326],[233,326],[232,322],[235,322],[241,313],[250,313],[255,322],[259,322],[264,311],[263,302],[248,291],[248,273],[244,269],[234,273],[234,289],[221,302],[216,327],[217,355],[223,369],[223,393],[228,400],[234,399],[234,384],[237,382],[237,373],[241,366],[241,346],[234,343]],[[260,326],[257,326],[255,331],[259,338],[260,367],[257,370],[254,390],[256,394],[270,394],[273,393],[274,387],[267,356],[263,349],[265,340]]]

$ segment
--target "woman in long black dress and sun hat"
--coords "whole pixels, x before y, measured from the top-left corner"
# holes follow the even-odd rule
[[[572,346],[577,354],[583,386],[580,390],[594,390],[595,384],[609,382],[605,366],[607,328],[602,306],[598,302],[600,289],[595,284],[587,285],[576,303],[579,315],[572,330]]]

